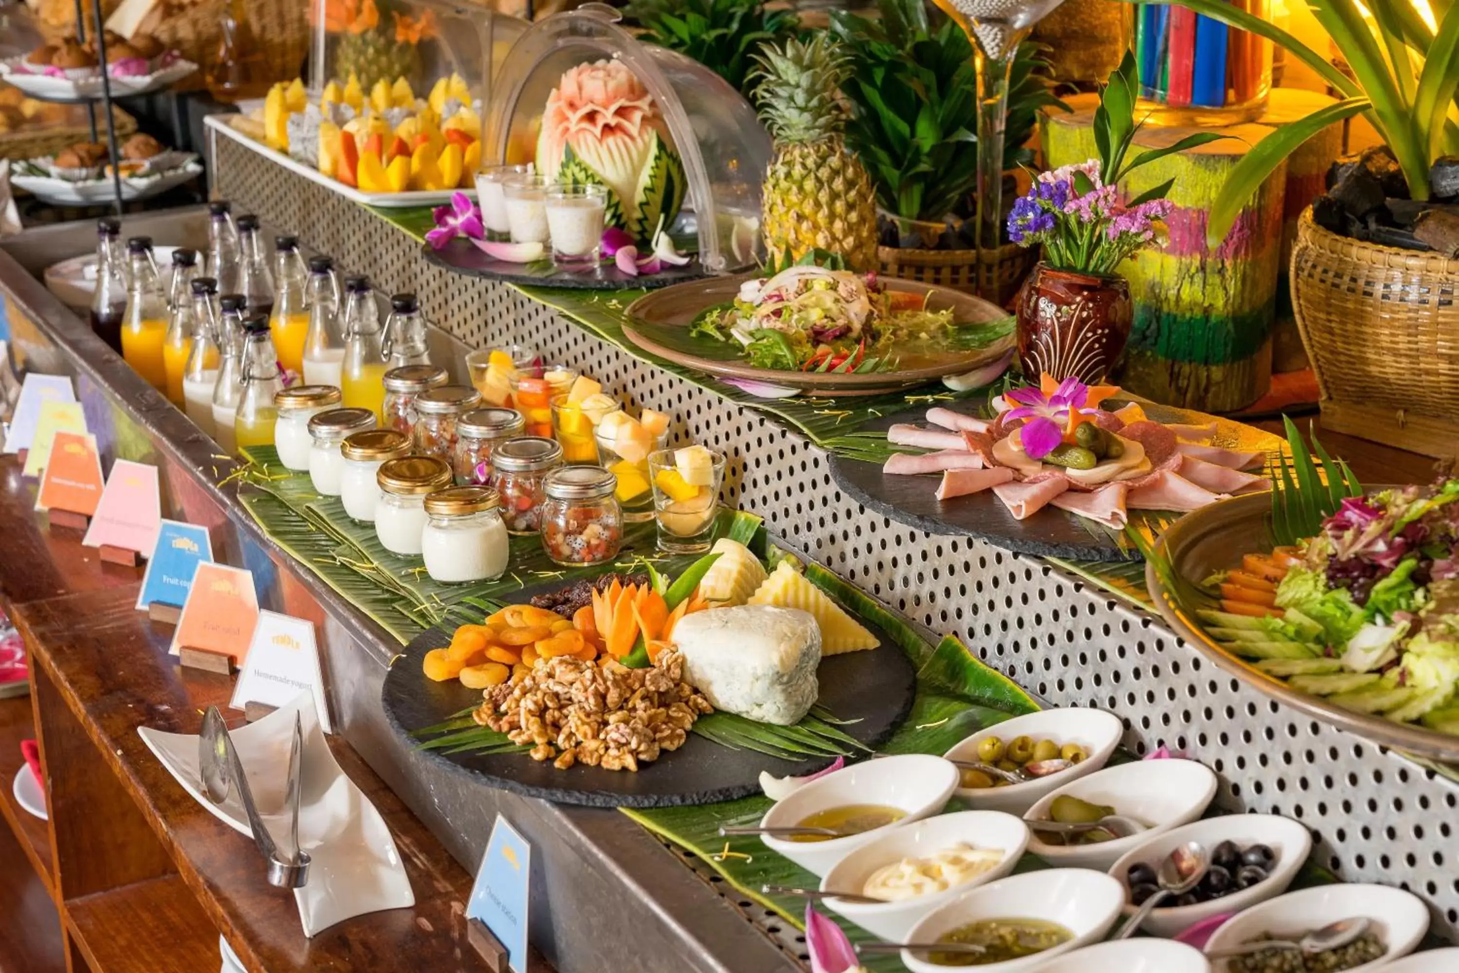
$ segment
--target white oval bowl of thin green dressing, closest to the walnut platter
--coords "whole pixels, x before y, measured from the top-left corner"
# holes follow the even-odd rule
[[[762,834],[760,840],[772,852],[785,855],[801,868],[824,875],[832,865],[880,837],[886,830],[921,821],[941,811],[957,788],[957,767],[929,754],[902,754],[842,767],[798,788],[772,807],[762,827],[794,827],[811,814],[848,804],[881,804],[906,811],[893,824],[861,834],[833,837],[829,842],[788,842]]]

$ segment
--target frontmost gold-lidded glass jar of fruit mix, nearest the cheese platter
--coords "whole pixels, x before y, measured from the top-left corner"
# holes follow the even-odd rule
[[[560,467],[543,492],[543,550],[566,567],[601,565],[623,546],[623,509],[613,496],[617,477],[603,467]]]

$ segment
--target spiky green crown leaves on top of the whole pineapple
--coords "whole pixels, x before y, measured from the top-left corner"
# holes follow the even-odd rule
[[[762,44],[750,58],[753,99],[772,139],[811,143],[842,134],[849,105],[840,86],[854,70],[845,45],[816,34],[808,41]]]

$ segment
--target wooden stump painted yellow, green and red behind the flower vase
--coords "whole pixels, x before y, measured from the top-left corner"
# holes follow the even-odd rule
[[[1091,127],[1097,99],[1068,101],[1072,114],[1042,121],[1049,168],[1097,155]],[[1192,131],[1147,125],[1134,152],[1169,146]],[[1142,251],[1121,268],[1135,301],[1121,381],[1156,401],[1202,411],[1234,411],[1266,392],[1277,280],[1284,273],[1285,165],[1272,172],[1220,247],[1205,244],[1207,216],[1226,177],[1272,127],[1247,123],[1218,131],[1234,137],[1166,156],[1137,169],[1121,187],[1132,197],[1174,181],[1166,247]]]

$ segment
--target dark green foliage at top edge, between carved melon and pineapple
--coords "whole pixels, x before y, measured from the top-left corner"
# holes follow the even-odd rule
[[[795,13],[762,0],[629,0],[623,13],[646,39],[694,58],[746,96],[754,50],[800,29]]]

